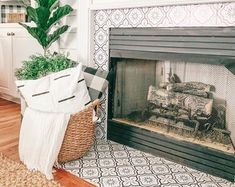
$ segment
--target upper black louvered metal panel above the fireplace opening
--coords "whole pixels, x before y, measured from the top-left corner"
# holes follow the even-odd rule
[[[110,57],[224,65],[235,74],[235,27],[110,28]]]

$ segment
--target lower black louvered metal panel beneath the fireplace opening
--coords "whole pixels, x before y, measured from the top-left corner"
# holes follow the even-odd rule
[[[235,155],[108,120],[108,139],[234,182]]]

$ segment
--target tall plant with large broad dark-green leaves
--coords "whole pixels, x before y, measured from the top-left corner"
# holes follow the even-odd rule
[[[36,0],[38,7],[27,6],[28,17],[36,26],[28,26],[20,23],[27,31],[37,39],[44,49],[44,55],[48,48],[59,39],[60,35],[65,33],[69,26],[64,25],[56,28],[52,32],[52,27],[58,23],[64,16],[70,14],[73,9],[69,5],[59,6],[59,0]]]

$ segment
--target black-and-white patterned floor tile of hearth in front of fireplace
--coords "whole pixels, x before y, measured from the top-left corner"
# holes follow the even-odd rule
[[[63,168],[98,187],[235,187],[224,179],[105,140]]]

